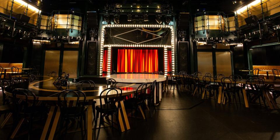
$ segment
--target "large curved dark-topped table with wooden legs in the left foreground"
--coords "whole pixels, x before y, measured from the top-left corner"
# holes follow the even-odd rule
[[[13,89],[23,88],[23,89],[32,91],[36,95],[36,99],[39,101],[43,101],[43,100],[57,101],[58,100],[57,93],[66,89],[66,87],[62,88],[59,86],[54,86],[53,81],[56,79],[54,77],[38,76],[38,78],[39,78],[39,81],[33,81],[31,83],[29,83],[28,81],[24,81],[19,84],[10,85],[5,88],[4,92],[8,96],[12,96]],[[131,83],[131,84],[119,83],[116,85],[116,87],[122,89],[122,96],[133,94],[136,91],[136,89],[138,88],[138,86],[139,86],[139,84],[135,84],[135,83]],[[87,116],[87,120],[88,120],[87,121],[88,122],[87,130],[92,130],[92,101],[93,101],[93,99],[99,99],[99,95],[100,95],[101,91],[106,88],[107,88],[106,86],[99,86],[99,87],[89,87],[88,86],[85,88],[79,88],[76,86],[76,84],[72,84],[69,87],[70,90],[81,90],[81,91],[85,92],[86,100],[89,101],[88,116]],[[115,94],[115,91],[111,91],[110,93],[108,93],[108,97],[110,97],[110,96],[114,97],[115,96],[114,94]],[[25,99],[25,97],[21,96],[21,95],[18,95],[17,97],[21,98],[21,99]],[[105,96],[101,96],[101,97],[105,98]],[[28,98],[33,99],[33,97],[28,97]],[[72,106],[74,100],[76,100],[77,98],[68,97],[66,99],[69,100],[69,106]],[[80,98],[80,100],[83,100],[83,98]],[[121,109],[119,108],[119,122],[120,122],[121,131],[124,132],[125,127],[124,127],[124,124],[122,121],[122,116],[123,116],[123,119],[125,120],[125,125],[126,125],[127,130],[130,129],[130,126],[129,126],[129,122],[127,119],[127,114],[125,111],[125,106],[123,104],[123,101],[120,101],[120,104],[121,104]],[[122,111],[120,111],[120,110],[122,110]],[[54,119],[52,119],[54,114],[55,114],[55,117],[54,117]],[[57,122],[60,118],[59,116],[60,116],[59,107],[57,107],[56,104],[52,105],[50,108],[50,111],[48,113],[48,118],[47,118],[46,124],[43,129],[41,140],[46,139],[47,132],[48,132],[51,122],[52,122],[52,127],[50,130],[48,139],[50,139],[50,140],[53,139],[54,134],[55,134],[55,129],[57,127]],[[23,122],[23,120],[20,122]],[[15,136],[15,134],[17,133],[21,124],[22,123],[18,124],[18,126],[16,127],[15,131],[13,132],[11,138]],[[92,131],[88,131],[87,135],[88,135],[88,139],[92,139]]]

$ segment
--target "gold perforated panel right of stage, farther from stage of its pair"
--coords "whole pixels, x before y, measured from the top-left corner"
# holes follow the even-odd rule
[[[216,52],[217,74],[232,75],[230,52]]]

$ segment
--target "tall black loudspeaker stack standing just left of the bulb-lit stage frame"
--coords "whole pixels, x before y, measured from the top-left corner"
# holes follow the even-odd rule
[[[88,58],[86,74],[97,74],[97,41],[88,41]]]

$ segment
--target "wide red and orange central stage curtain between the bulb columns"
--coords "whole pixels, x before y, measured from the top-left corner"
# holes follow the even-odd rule
[[[118,49],[117,72],[158,71],[158,50]]]

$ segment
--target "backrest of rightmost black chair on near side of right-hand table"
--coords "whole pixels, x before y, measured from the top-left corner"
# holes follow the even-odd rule
[[[261,78],[249,78],[246,80],[247,89],[249,85],[252,91],[262,93],[264,82]]]

